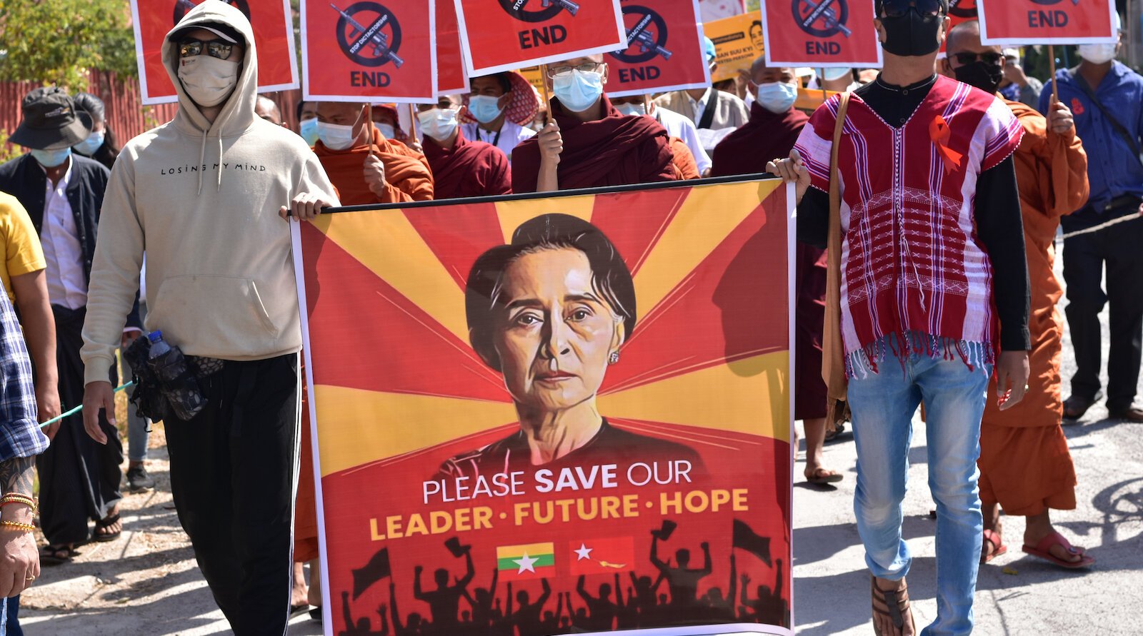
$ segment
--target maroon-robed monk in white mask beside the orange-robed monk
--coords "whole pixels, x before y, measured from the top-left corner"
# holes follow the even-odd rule
[[[491,144],[464,138],[457,120],[459,98],[442,95],[437,104],[422,104],[418,111],[434,199],[512,193],[507,156]]]

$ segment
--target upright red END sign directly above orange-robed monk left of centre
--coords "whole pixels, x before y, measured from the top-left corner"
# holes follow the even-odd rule
[[[434,0],[302,0],[305,99],[435,99]]]

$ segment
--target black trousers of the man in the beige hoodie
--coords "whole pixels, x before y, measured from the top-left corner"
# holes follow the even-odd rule
[[[227,361],[203,381],[207,406],[165,424],[178,521],[239,636],[285,634],[289,619],[297,360]]]

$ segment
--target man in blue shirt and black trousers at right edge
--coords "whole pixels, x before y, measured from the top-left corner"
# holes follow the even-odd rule
[[[1117,21],[1118,22],[1118,21]],[[1076,130],[1088,153],[1087,206],[1063,217],[1064,234],[1090,231],[1120,217],[1138,214],[1143,201],[1143,78],[1116,61],[1119,45],[1081,45],[1076,69],[1056,73],[1060,100],[1076,113]],[[1048,112],[1052,91],[1040,95]],[[1143,354],[1143,220],[1120,223],[1064,239],[1064,281],[1068,283],[1068,327],[1076,349],[1071,396],[1064,418],[1077,420],[1095,404],[1100,386],[1102,345],[1100,312],[1111,305],[1111,346],[1108,353],[1108,414],[1143,421],[1135,392]],[[1103,288],[1106,268],[1106,289]]]

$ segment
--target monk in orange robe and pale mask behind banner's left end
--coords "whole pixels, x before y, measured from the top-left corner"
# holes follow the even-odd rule
[[[363,104],[318,104],[318,142],[313,152],[337,188],[342,204],[431,200],[433,180],[429,161],[368,126],[366,112]],[[371,144],[367,143],[370,131]]]

